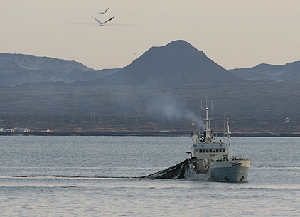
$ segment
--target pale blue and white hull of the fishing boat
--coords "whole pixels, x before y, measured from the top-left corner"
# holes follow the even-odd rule
[[[186,167],[185,179],[195,181],[247,181],[250,161],[242,162],[244,166],[232,164],[232,162],[211,162],[211,164],[213,165],[210,165],[210,168],[202,174],[197,174],[197,171]]]

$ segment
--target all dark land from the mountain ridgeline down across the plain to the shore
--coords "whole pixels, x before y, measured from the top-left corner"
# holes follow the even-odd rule
[[[41,128],[80,122],[80,130],[82,123],[94,123],[103,130],[136,126],[142,132],[148,128],[139,129],[139,122],[161,123],[157,129],[165,130],[166,122],[191,125],[200,100],[208,97],[214,129],[229,111],[233,131],[299,135],[299,68],[294,62],[225,70],[182,40],[152,47],[124,68],[100,71],[75,61],[1,53],[0,128],[18,127],[22,120]],[[65,117],[55,117],[60,115]]]

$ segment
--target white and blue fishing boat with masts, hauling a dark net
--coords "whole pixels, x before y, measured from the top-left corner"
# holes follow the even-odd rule
[[[191,133],[193,147],[191,157],[185,166],[184,178],[195,181],[246,181],[251,157],[233,156],[230,143],[229,115],[227,116],[227,142],[218,139],[210,127],[208,111],[206,113],[203,135]]]

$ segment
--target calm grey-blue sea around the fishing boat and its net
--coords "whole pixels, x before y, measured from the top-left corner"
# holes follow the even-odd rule
[[[300,138],[232,137],[247,183],[139,179],[189,137],[0,137],[0,216],[299,216]]]

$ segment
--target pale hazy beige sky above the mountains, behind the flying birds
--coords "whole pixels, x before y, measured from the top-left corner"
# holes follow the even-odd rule
[[[115,18],[100,27],[90,16]],[[300,60],[299,0],[0,0],[0,19],[0,53],[97,70],[178,39],[226,69]]]

